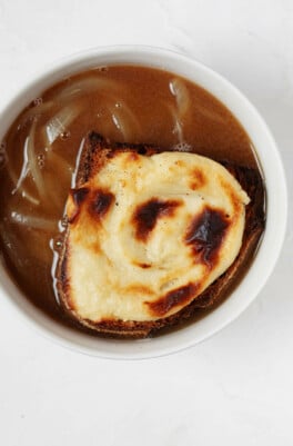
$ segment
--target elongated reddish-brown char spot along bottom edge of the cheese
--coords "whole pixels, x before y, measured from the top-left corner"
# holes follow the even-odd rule
[[[199,286],[195,284],[189,284],[183,287],[173,289],[160,297],[158,300],[146,303],[151,313],[154,316],[165,316],[174,307],[189,303],[198,291]]]

